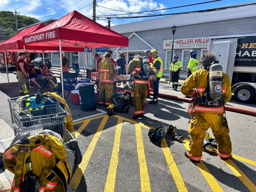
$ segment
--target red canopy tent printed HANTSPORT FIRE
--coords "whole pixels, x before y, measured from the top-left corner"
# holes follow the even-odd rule
[[[36,32],[24,35],[23,44],[31,48],[34,46],[34,49],[54,50],[61,53],[62,51],[84,52],[85,48],[128,47],[129,40],[128,37],[96,23],[81,13],[72,11]],[[60,68],[63,77],[61,59]],[[63,79],[61,81],[64,97]]]

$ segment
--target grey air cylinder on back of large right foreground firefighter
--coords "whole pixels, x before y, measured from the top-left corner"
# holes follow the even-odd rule
[[[209,96],[215,101],[222,97],[222,66],[217,63],[209,70]]]

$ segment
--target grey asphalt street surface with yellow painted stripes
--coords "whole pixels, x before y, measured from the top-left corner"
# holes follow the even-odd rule
[[[15,75],[10,74],[9,79],[16,82]],[[8,85],[6,82],[6,73],[0,71],[0,118],[11,126],[7,99],[18,96],[18,87],[17,83]],[[160,91],[183,96],[163,82]],[[203,152],[202,161],[194,164],[184,156],[189,143],[187,128],[190,119],[186,102],[160,98],[157,105],[147,104],[145,117],[138,120],[131,118],[134,107],[130,107],[128,113],[117,112],[108,116],[105,107],[101,106],[93,112],[81,111],[79,106],[72,104],[71,96],[67,103],[83,155],[82,163],[73,169],[70,191],[256,191],[254,116],[227,111],[232,158],[223,161],[215,153]],[[256,106],[255,102],[241,104],[233,99],[227,104],[252,110]],[[170,124],[176,126],[178,134],[185,138],[182,143],[170,136],[165,136],[161,144],[148,139],[149,128]],[[12,137],[13,130],[10,129],[8,134],[4,137]],[[5,139],[2,135],[0,139]]]

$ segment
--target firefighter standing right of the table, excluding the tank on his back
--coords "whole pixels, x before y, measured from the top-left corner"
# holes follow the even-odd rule
[[[141,65],[140,55],[135,55],[134,59],[129,62],[128,70],[134,76],[132,97],[133,105],[135,108],[135,115],[132,118],[138,119],[139,117],[144,116],[148,84],[148,78],[142,78],[141,75],[141,70],[143,69]],[[149,79],[154,79],[155,75],[155,72],[152,70],[152,68],[150,68]]]

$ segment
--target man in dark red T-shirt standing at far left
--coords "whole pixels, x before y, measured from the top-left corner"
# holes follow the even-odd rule
[[[25,52],[19,53],[17,59],[17,77],[19,81],[19,92],[20,96],[29,94],[29,65],[24,60],[26,58]]]

